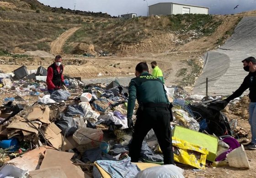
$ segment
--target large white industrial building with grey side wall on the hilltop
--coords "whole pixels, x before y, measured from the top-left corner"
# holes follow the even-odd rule
[[[184,5],[172,2],[162,2],[149,5],[149,16],[172,14],[209,14],[209,8],[196,5]]]

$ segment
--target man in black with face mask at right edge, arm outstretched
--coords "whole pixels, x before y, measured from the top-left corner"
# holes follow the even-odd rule
[[[242,60],[244,63],[244,70],[249,72],[245,77],[240,87],[231,94],[227,99],[224,99],[223,108],[231,101],[239,97],[243,92],[249,88],[249,124],[251,125],[251,142],[244,147],[248,149],[256,150],[256,59],[253,57],[245,58]]]

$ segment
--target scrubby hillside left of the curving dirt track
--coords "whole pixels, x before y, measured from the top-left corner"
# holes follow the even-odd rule
[[[89,16],[92,14],[85,16],[69,11],[42,5],[37,0],[0,1],[0,33],[4,34],[0,38],[0,50],[49,52],[50,43],[69,28],[108,19],[101,17],[102,13],[92,17]]]

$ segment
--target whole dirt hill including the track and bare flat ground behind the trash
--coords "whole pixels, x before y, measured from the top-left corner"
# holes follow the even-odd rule
[[[62,54],[65,74],[82,78],[130,76],[138,62],[154,60],[167,85],[190,86],[201,72],[203,53],[224,43],[243,16],[256,13],[130,20],[96,14],[52,8],[36,0],[1,1],[0,32],[5,35],[0,38],[0,69],[48,67],[53,58],[11,54],[36,50]],[[99,57],[101,51],[110,53]],[[82,56],[85,52],[96,58]]]

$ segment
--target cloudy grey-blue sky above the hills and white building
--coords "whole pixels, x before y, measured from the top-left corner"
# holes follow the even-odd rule
[[[147,5],[160,2],[205,6],[209,7],[210,14],[236,14],[256,10],[256,0],[39,0],[39,2],[51,7],[102,12],[111,16],[127,13],[147,16]],[[234,9],[236,5],[239,6]]]

